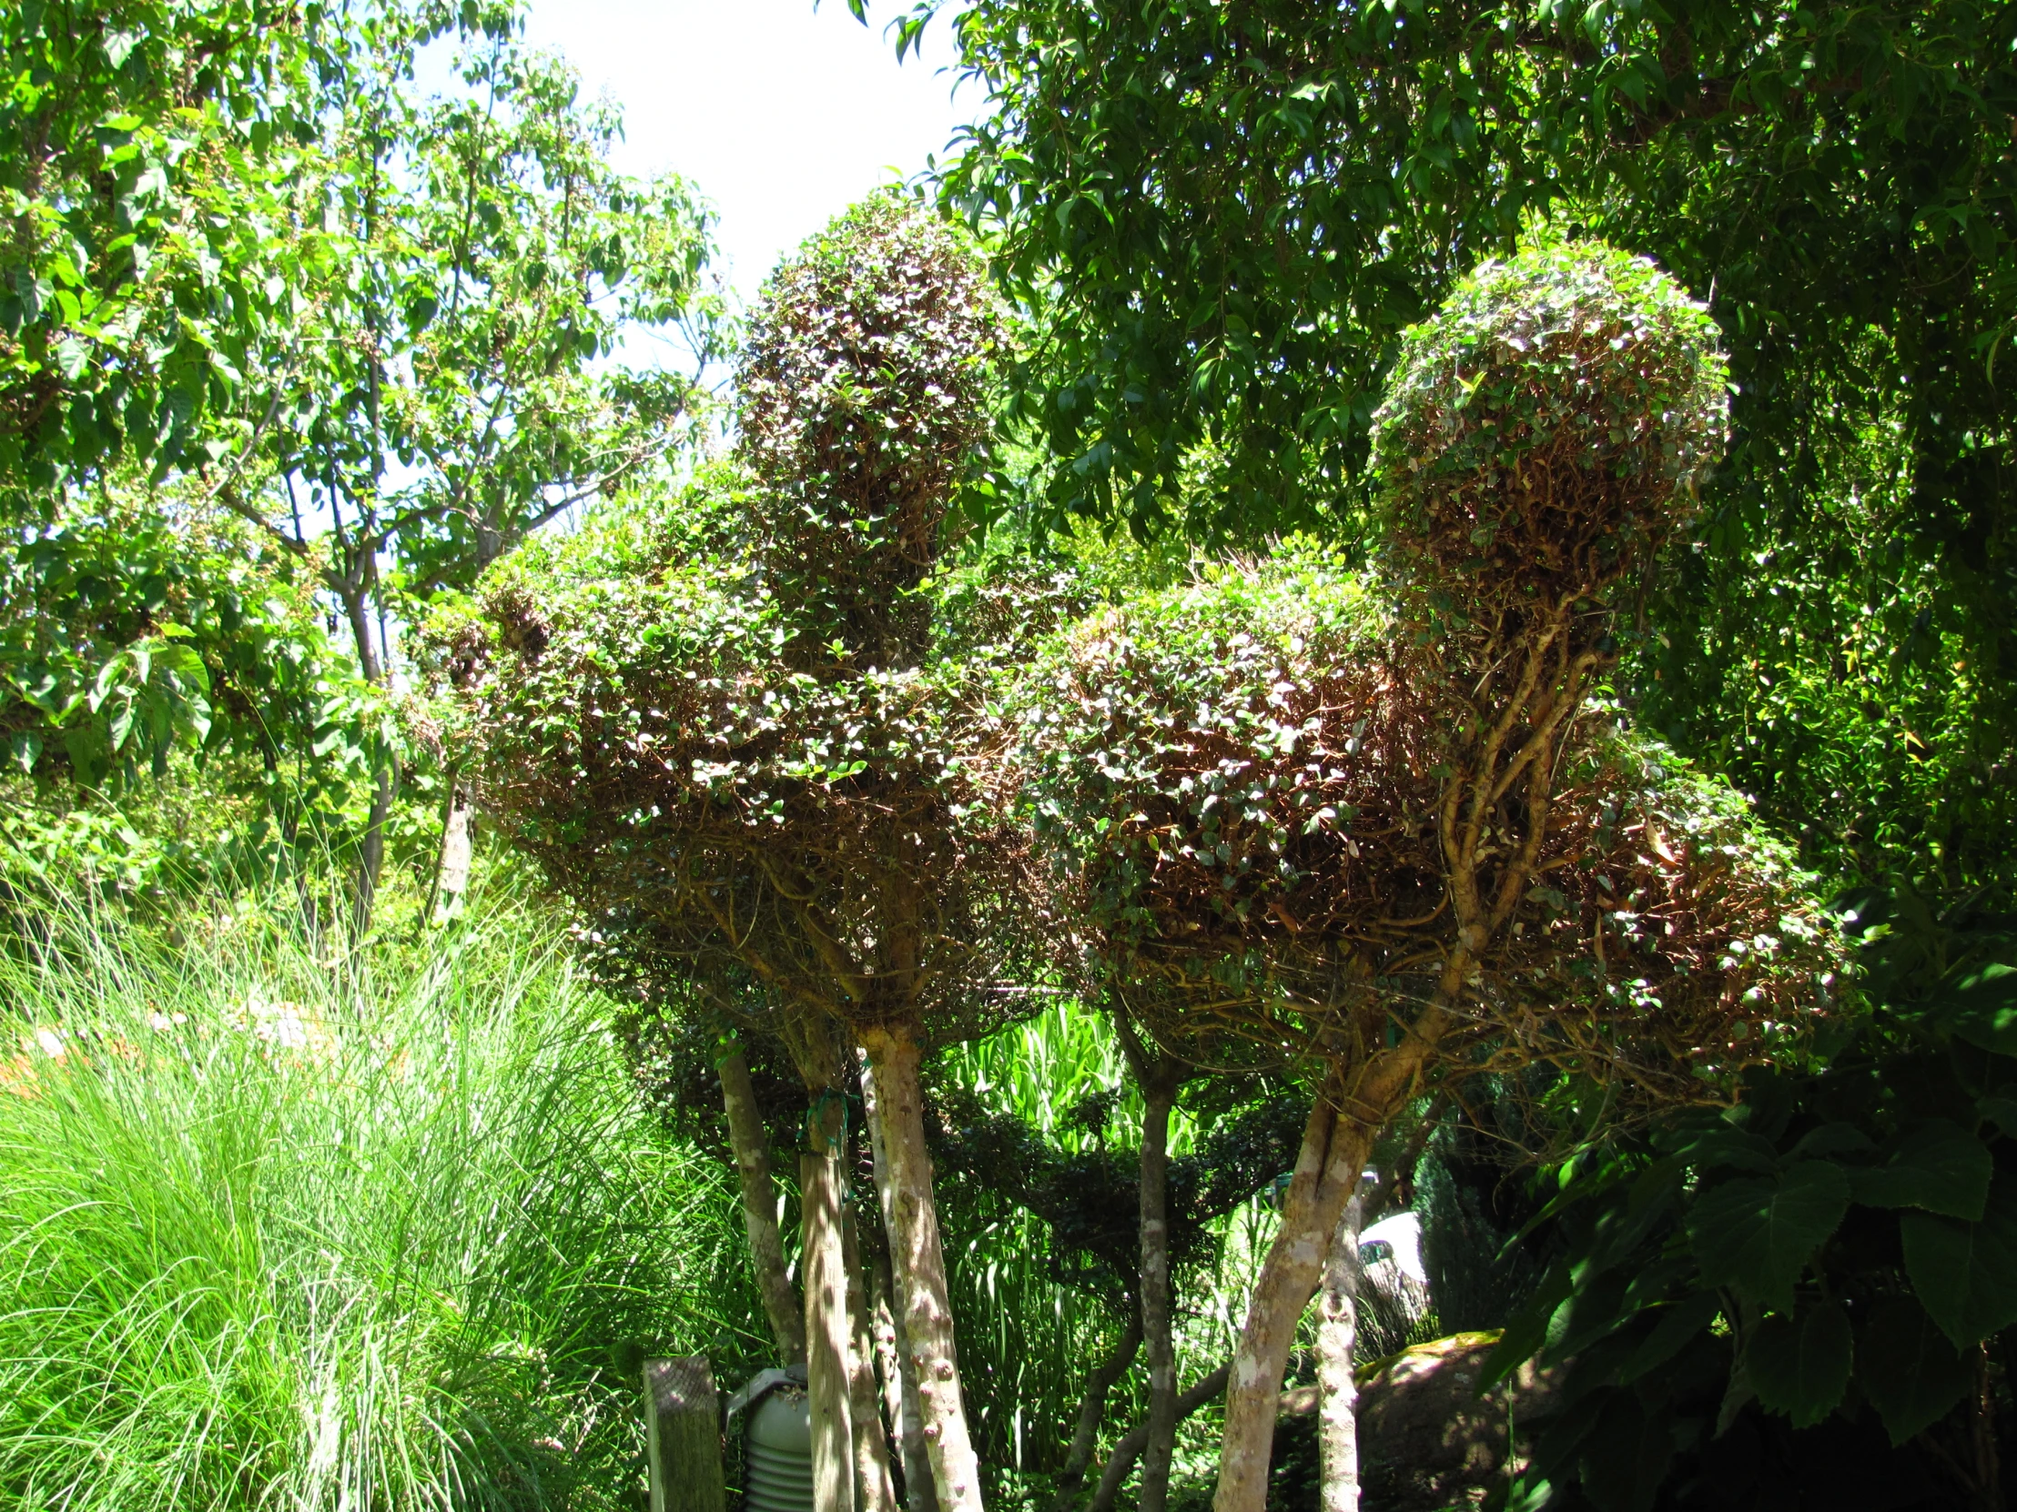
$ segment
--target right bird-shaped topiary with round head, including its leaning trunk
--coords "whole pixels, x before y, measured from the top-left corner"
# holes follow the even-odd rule
[[[1017,696],[1021,802],[1087,950],[1172,1036],[1315,1068],[1226,1399],[1259,1512],[1297,1318],[1372,1141],[1549,1060],[1714,1099],[1825,1004],[1833,952],[1745,802],[1601,700],[1614,617],[1725,435],[1706,312],[1547,244],[1476,270],[1376,423],[1386,548],[1299,546],[1059,633]]]

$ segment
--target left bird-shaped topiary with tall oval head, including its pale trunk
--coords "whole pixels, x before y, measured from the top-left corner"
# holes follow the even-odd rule
[[[918,1062],[1017,1002],[1027,917],[1021,845],[970,760],[988,657],[940,653],[928,583],[994,329],[950,230],[894,200],[849,212],[756,310],[740,472],[500,564],[434,631],[486,802],[605,950],[746,974],[797,1038],[867,1048],[946,1512],[980,1484]]]

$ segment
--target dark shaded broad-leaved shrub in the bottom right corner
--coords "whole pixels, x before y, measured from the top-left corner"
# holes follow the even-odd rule
[[[1725,1115],[1559,1169],[1547,1218],[1563,1254],[1495,1361],[1575,1361],[1529,1488],[1547,1482],[1565,1506],[1648,1504],[1608,1490],[1630,1443],[1575,1427],[1626,1401],[1664,1435],[1650,1480],[1632,1484],[1650,1496],[1664,1482],[1676,1508],[1759,1484],[1791,1454],[1787,1427],[1825,1431],[1856,1466],[1848,1506],[1910,1502],[1882,1500],[1904,1482],[1928,1496],[1942,1464],[1979,1474],[1975,1445],[1995,1431],[1983,1413],[1999,1409],[1977,1369],[2007,1371],[2017,1337],[2003,1173],[2017,1058],[1950,1034],[1942,1006],[1961,982],[2001,980],[2009,937],[1886,911],[1858,911],[1876,1016],[1825,1066],[1759,1073]]]

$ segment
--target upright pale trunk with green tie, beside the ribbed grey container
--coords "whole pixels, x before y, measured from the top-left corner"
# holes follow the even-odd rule
[[[805,1369],[813,1413],[813,1512],[853,1512],[855,1445],[849,1411],[847,1256],[841,1236],[841,1101],[819,1093],[807,1117],[815,1149],[799,1151],[805,1266]]]

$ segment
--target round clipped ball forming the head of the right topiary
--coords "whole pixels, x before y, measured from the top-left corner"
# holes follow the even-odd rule
[[[1686,522],[1729,433],[1706,306],[1646,258],[1549,242],[1402,337],[1374,462],[1408,577],[1474,607],[1601,599]]]

